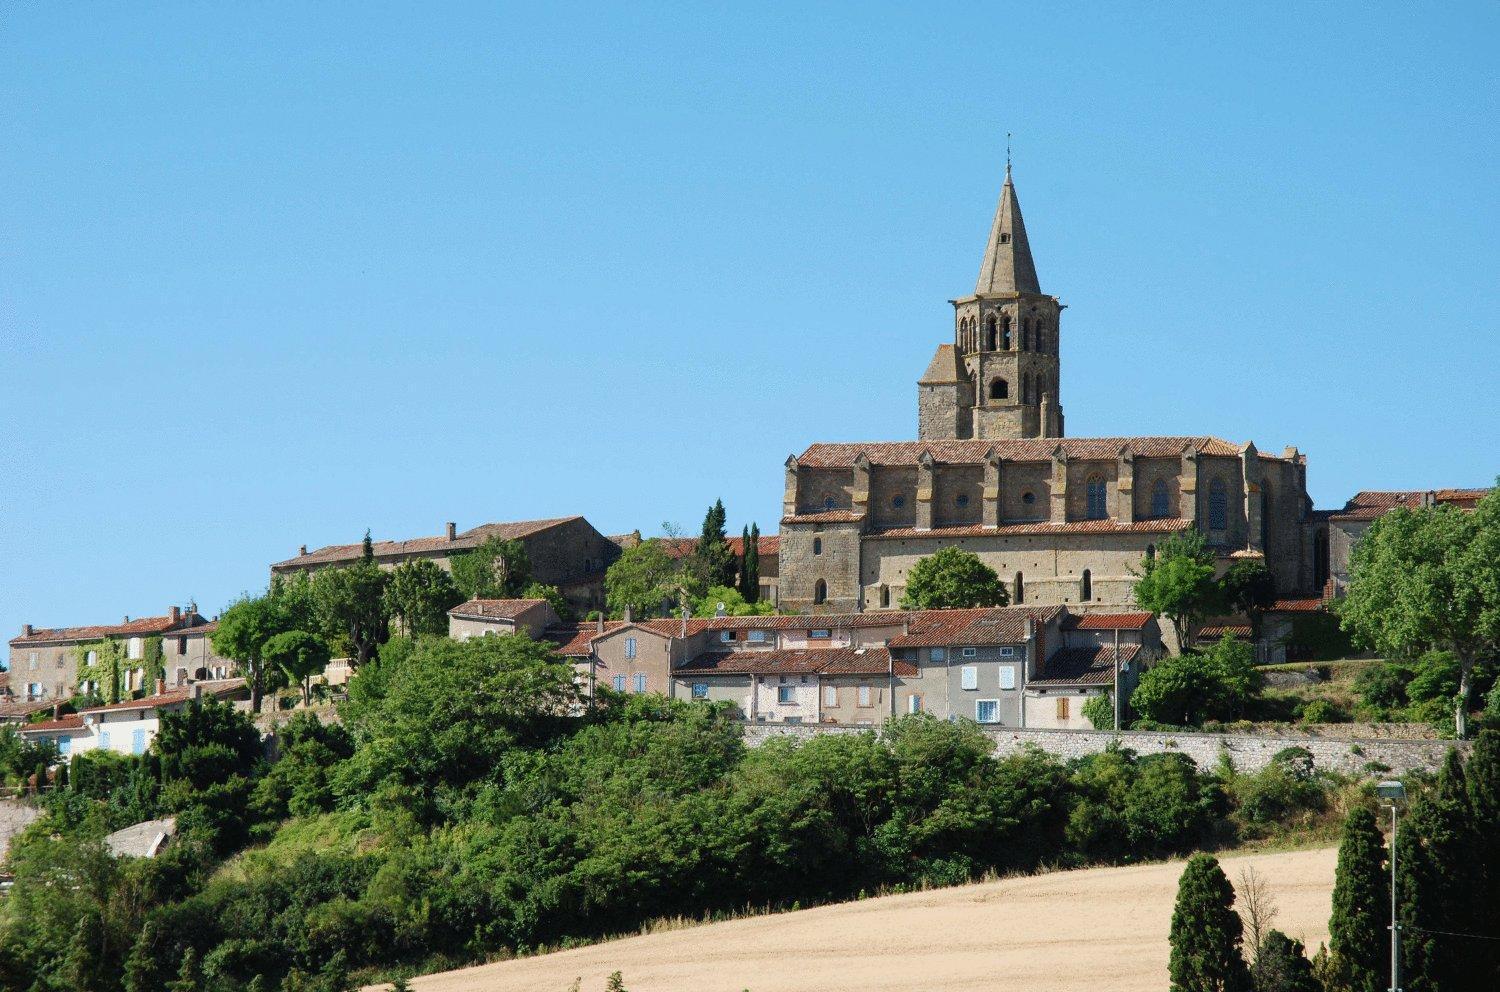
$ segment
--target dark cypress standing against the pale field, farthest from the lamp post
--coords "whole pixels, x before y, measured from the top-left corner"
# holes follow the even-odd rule
[[[1218,858],[1194,854],[1182,870],[1172,911],[1172,992],[1250,992],[1242,936],[1234,887]]]

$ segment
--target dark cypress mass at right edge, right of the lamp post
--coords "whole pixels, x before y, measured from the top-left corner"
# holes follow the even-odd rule
[[[1449,750],[1437,788],[1412,804],[1396,840],[1396,918],[1406,992],[1492,992],[1473,966],[1476,906],[1492,897],[1474,888],[1473,807],[1462,761]],[[1482,953],[1482,951],[1478,951]]]

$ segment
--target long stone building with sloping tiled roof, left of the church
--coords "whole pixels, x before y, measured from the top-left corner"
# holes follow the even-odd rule
[[[620,557],[620,543],[600,534],[582,516],[482,524],[462,533],[456,524],[448,522],[442,534],[435,537],[376,540],[372,551],[375,561],[386,569],[414,558],[429,558],[452,569],[454,555],[478,548],[489,537],[520,542],[531,560],[531,576],[543,585],[558,587],[573,609],[582,614],[603,608],[604,569]],[[296,557],[272,566],[272,579],[278,575],[352,564],[363,552],[363,543],[328,545],[316,551],[308,551],[303,545]]]

